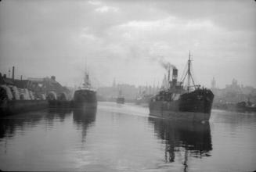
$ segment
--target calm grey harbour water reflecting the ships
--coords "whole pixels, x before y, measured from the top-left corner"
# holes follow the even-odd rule
[[[1,170],[254,171],[256,114],[213,110],[209,123],[149,117],[132,104],[45,110],[0,120]]]

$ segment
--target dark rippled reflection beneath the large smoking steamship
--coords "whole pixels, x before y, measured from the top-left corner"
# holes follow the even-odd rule
[[[188,167],[188,156],[202,158],[211,156],[211,129],[209,123],[191,123],[149,117],[157,137],[165,142],[166,162],[175,162],[175,152],[184,152],[182,164]],[[188,155],[189,153],[189,155]]]

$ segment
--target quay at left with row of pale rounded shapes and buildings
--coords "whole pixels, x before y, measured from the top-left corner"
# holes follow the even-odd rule
[[[10,74],[9,74],[10,76]],[[23,79],[0,73],[0,116],[26,113],[51,107],[71,107],[72,91],[56,81],[56,77]]]

